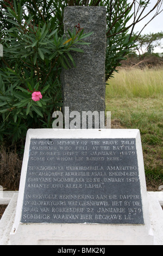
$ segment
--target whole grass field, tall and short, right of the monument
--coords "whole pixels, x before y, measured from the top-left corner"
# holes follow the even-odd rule
[[[148,188],[163,184],[163,69],[120,69],[106,85],[112,124],[139,129]]]

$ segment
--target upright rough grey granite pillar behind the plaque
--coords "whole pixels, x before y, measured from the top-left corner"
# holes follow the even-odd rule
[[[78,23],[84,33],[93,32],[84,39],[91,45],[80,46],[84,53],[71,53],[77,68],[62,72],[64,107],[70,107],[70,112],[105,110],[105,17],[105,7],[65,8],[65,32],[72,31]]]

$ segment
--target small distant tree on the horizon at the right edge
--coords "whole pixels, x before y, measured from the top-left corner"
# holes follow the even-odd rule
[[[145,57],[147,52],[152,53],[156,46],[161,46],[160,40],[162,38],[162,31],[159,33],[139,35],[136,40],[137,46],[135,47],[135,49],[139,52],[139,56],[143,55],[143,57]]]

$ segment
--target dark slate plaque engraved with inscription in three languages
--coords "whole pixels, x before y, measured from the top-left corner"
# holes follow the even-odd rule
[[[21,222],[143,224],[135,138],[30,139]]]

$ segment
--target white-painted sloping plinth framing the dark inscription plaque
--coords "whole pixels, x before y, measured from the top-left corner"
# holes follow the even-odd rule
[[[31,138],[135,138],[145,224],[21,223]],[[27,133],[16,216],[10,233],[10,242],[11,245],[153,245],[154,233],[149,215],[139,130],[30,129]]]

